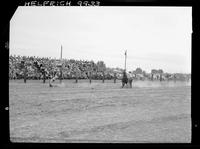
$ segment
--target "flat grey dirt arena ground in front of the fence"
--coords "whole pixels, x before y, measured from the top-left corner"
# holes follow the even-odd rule
[[[190,82],[10,80],[11,142],[190,143]]]

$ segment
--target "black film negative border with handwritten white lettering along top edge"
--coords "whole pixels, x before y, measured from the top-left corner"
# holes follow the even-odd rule
[[[5,9],[3,10],[2,17],[1,17],[1,31],[0,31],[0,42],[1,42],[1,50],[0,50],[0,64],[1,64],[1,73],[0,78],[1,82],[1,113],[3,118],[1,117],[1,141],[3,142],[3,147],[10,148],[10,147],[65,147],[66,143],[55,143],[55,144],[48,144],[48,143],[11,143],[9,139],[9,21],[12,18],[13,14],[15,13],[18,6],[80,6],[81,7],[89,7],[89,6],[173,6],[173,7],[192,7],[192,82],[191,82],[191,114],[192,114],[192,143],[151,143],[151,144],[127,144],[127,143],[109,143],[112,145],[136,145],[136,146],[196,146],[199,145],[199,128],[200,128],[200,116],[198,115],[198,109],[200,106],[198,104],[198,88],[200,86],[199,76],[198,73],[198,59],[200,58],[200,2],[198,0],[98,0],[98,1],[90,1],[88,0],[87,3],[85,1],[69,1],[63,0],[64,3],[61,1],[54,1],[50,4],[43,1],[31,1],[31,0],[21,0],[21,1],[9,1],[7,4],[3,4]],[[93,2],[93,3],[92,3]],[[95,2],[95,3],[94,3]],[[54,5],[53,5],[54,4]],[[79,145],[82,143],[78,143]],[[87,145],[91,145],[92,143],[88,143]],[[55,145],[55,146],[54,146]],[[68,144],[69,145],[69,144]],[[85,144],[84,144],[85,145]],[[97,145],[95,143],[94,145]],[[100,146],[99,146],[100,145]],[[101,146],[102,145],[102,146]],[[105,144],[98,144],[99,147],[105,147]],[[82,146],[80,146],[82,147]],[[120,147],[120,146],[119,146]]]

